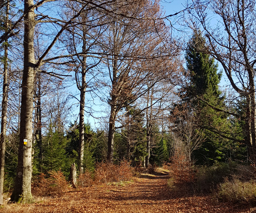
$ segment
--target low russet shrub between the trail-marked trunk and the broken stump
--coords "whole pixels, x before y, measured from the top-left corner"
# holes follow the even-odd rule
[[[69,187],[63,173],[50,171],[49,177],[43,173],[32,184],[32,193],[36,196],[60,196]]]

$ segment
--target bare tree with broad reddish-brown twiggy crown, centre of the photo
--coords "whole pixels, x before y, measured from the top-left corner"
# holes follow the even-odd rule
[[[116,3],[116,2],[115,2]],[[113,8],[116,6],[113,4]],[[145,9],[146,8],[146,9]],[[146,12],[145,12],[146,11]],[[148,89],[147,81],[163,78],[163,75],[149,68],[150,61],[163,58],[166,51],[161,52],[163,43],[159,32],[163,33],[164,22],[161,17],[160,6],[157,2],[137,1],[119,9],[119,14],[111,15],[112,22],[105,32],[102,40],[102,49],[106,59],[102,59],[108,69],[109,79],[106,86],[110,91],[108,104],[110,105],[109,135],[108,135],[108,161],[113,161],[113,143],[116,122],[126,106],[132,105]],[[134,17],[134,18],[131,18]],[[159,32],[158,32],[159,31]],[[106,39],[106,37],[108,39]],[[161,49],[161,50],[160,50]],[[170,51],[171,52],[171,51]],[[169,59],[166,56],[166,60]],[[145,61],[148,61],[145,63]],[[153,63],[153,62],[152,62]],[[108,84],[108,81],[111,83]],[[121,121],[119,121],[121,122]],[[122,123],[122,122],[121,122]]]

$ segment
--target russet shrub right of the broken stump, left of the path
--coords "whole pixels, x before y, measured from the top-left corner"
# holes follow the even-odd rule
[[[134,176],[134,169],[128,161],[122,161],[120,165],[100,163],[95,170],[96,183],[108,183],[128,181]]]

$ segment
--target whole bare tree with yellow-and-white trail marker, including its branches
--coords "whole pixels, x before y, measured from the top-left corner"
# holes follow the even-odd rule
[[[112,1],[110,1],[112,2]],[[81,15],[87,4],[90,4],[92,8],[98,8],[100,10],[108,11],[107,5],[110,3],[107,1],[83,1],[81,9],[76,12],[68,20],[62,18],[62,14],[59,18],[49,17],[41,12],[40,7],[42,5],[50,7],[59,6],[58,2],[54,0],[43,0],[34,4],[33,0],[24,1],[24,63],[23,63],[23,79],[22,79],[22,92],[21,92],[21,109],[20,109],[20,143],[19,143],[19,154],[18,154],[18,165],[17,165],[17,176],[15,179],[15,187],[11,196],[11,201],[18,202],[29,202],[31,201],[31,177],[32,177],[32,115],[33,115],[33,95],[34,95],[34,82],[36,72],[47,73],[58,77],[61,74],[56,75],[54,72],[47,72],[46,70],[40,69],[44,63],[58,63],[58,59],[66,58],[64,49],[58,52],[53,51],[53,46],[60,38],[61,34],[68,29],[68,27],[76,20],[77,17]],[[62,2],[61,2],[62,3]],[[51,5],[53,4],[53,5]],[[62,5],[61,5],[62,6]],[[35,9],[36,13],[35,13]],[[50,35],[54,35],[49,39],[47,37],[47,43],[45,45],[43,53],[40,55],[38,60],[35,60],[35,50],[34,50],[34,34],[35,26],[40,24],[42,27],[47,27],[47,24],[52,24],[53,29],[57,29],[57,32],[51,32]],[[4,35],[6,36],[6,35]],[[46,35],[43,36],[46,38]],[[0,37],[0,40],[2,36]],[[56,53],[57,52],[57,53]],[[63,74],[62,76],[67,76]],[[58,111],[59,112],[59,111]],[[60,118],[60,116],[58,116]],[[60,121],[61,123],[61,121]]]

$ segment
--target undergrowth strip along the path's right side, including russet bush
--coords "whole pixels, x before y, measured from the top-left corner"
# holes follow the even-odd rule
[[[180,190],[190,184],[195,194],[212,193],[218,201],[256,205],[256,169],[234,162],[211,167],[194,167],[182,155],[164,164],[171,171],[167,181],[170,190]]]

